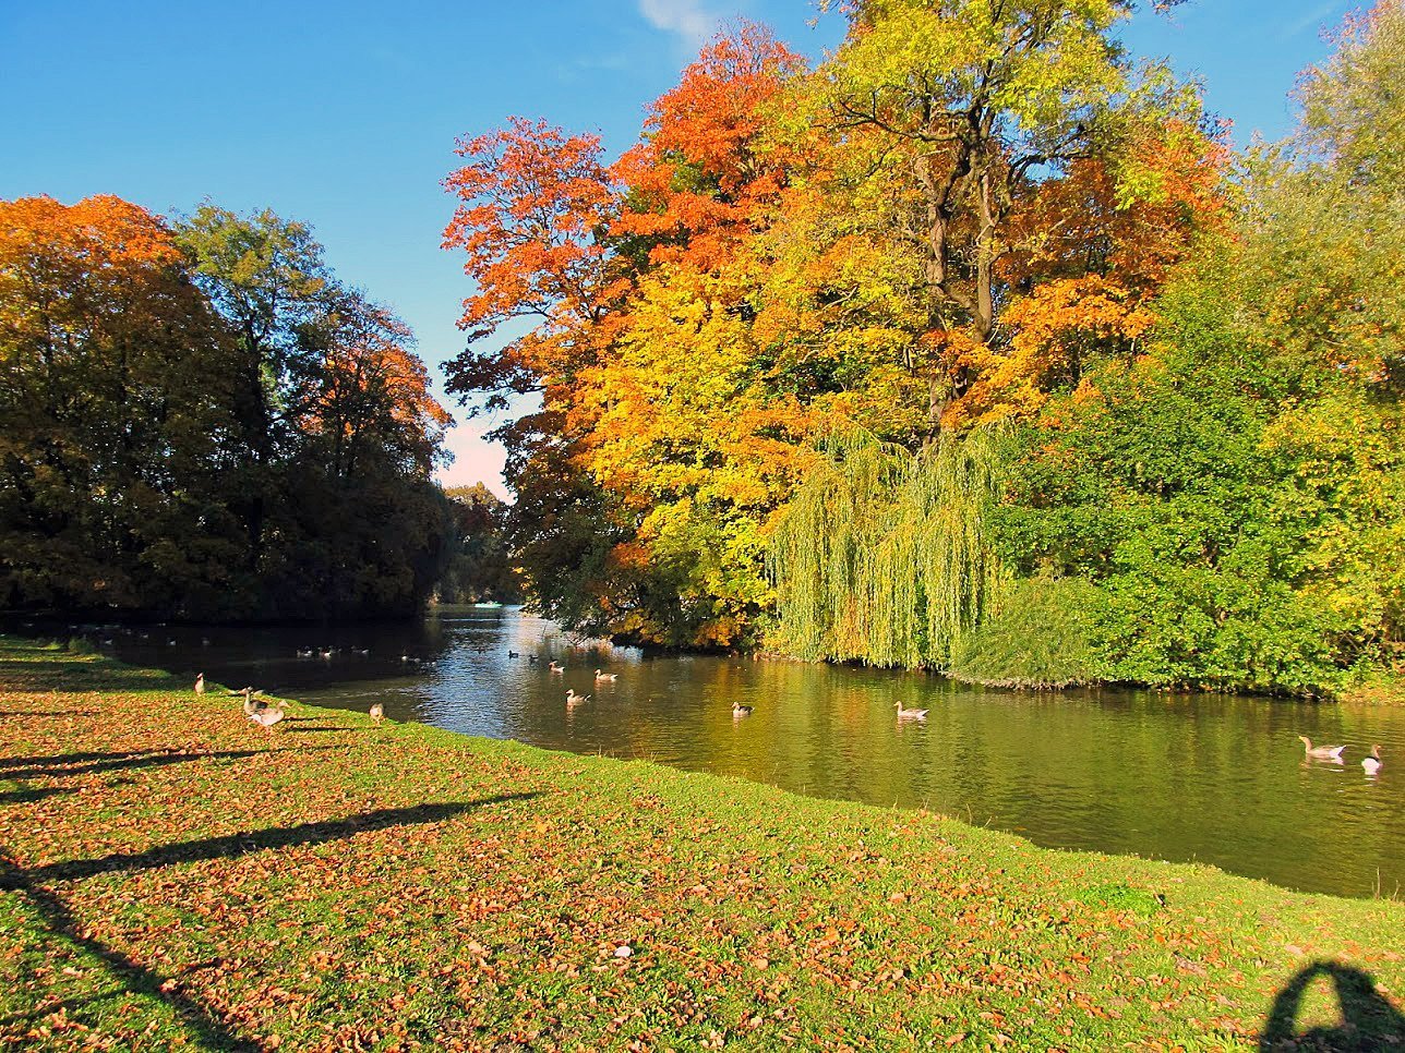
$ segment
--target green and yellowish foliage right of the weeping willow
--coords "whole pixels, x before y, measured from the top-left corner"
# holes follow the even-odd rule
[[[1339,691],[1394,654],[1405,198],[1371,177],[1398,146],[1350,122],[1398,119],[1402,18],[1380,6],[1304,80],[1298,139],[1249,160],[1235,237],[1155,305],[1154,352],[1024,432],[1003,552],[1102,587],[1111,678]]]

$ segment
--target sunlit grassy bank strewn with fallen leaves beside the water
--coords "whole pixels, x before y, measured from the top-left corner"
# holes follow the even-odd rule
[[[1242,1047],[1316,962],[1300,1028],[1405,1040],[1405,904],[355,713],[268,734],[15,640],[0,852],[0,1047]]]

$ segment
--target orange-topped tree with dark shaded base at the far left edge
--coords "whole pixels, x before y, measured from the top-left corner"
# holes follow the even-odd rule
[[[0,202],[0,602],[211,602],[236,348],[170,230],[114,197]]]

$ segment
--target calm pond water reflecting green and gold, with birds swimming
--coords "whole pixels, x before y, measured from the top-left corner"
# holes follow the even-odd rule
[[[580,644],[511,608],[445,608],[417,626],[145,632],[104,632],[104,650],[316,705],[382,702],[392,719],[468,734],[926,807],[1040,845],[1210,862],[1308,892],[1405,894],[1405,709],[1007,694],[922,674],[646,657]],[[309,647],[340,650],[296,657]],[[566,673],[549,673],[549,658]],[[597,665],[618,682],[596,684]],[[566,712],[566,688],[590,702]],[[932,712],[899,723],[898,701]],[[756,712],[733,719],[732,702]],[[1347,762],[1305,762],[1298,734],[1347,743]],[[1385,767],[1367,778],[1360,758],[1373,743]]]

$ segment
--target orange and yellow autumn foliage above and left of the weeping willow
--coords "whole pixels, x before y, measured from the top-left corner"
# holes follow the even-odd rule
[[[497,434],[547,611],[753,643],[767,536],[833,427],[915,451],[1132,352],[1217,222],[1222,150],[1194,93],[1116,44],[1127,8],[856,4],[813,72],[742,24],[614,164],[540,121],[461,145],[444,241],[475,288],[448,386],[485,410],[541,397]]]

